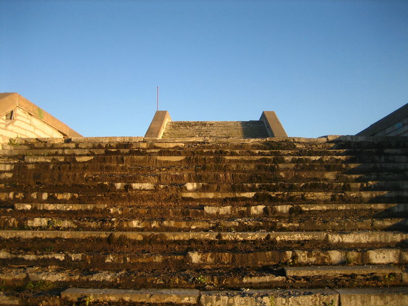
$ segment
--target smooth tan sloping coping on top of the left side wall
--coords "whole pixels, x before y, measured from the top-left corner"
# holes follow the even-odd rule
[[[17,92],[0,93],[0,101],[2,102],[0,103],[0,115],[6,114],[14,108],[19,107],[30,115],[54,127],[64,135],[69,137],[83,137],[78,132],[72,130],[68,125],[36,106]]]

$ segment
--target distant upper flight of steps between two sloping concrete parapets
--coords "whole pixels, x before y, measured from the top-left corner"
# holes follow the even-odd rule
[[[163,137],[170,138],[267,138],[263,121],[170,121]]]

